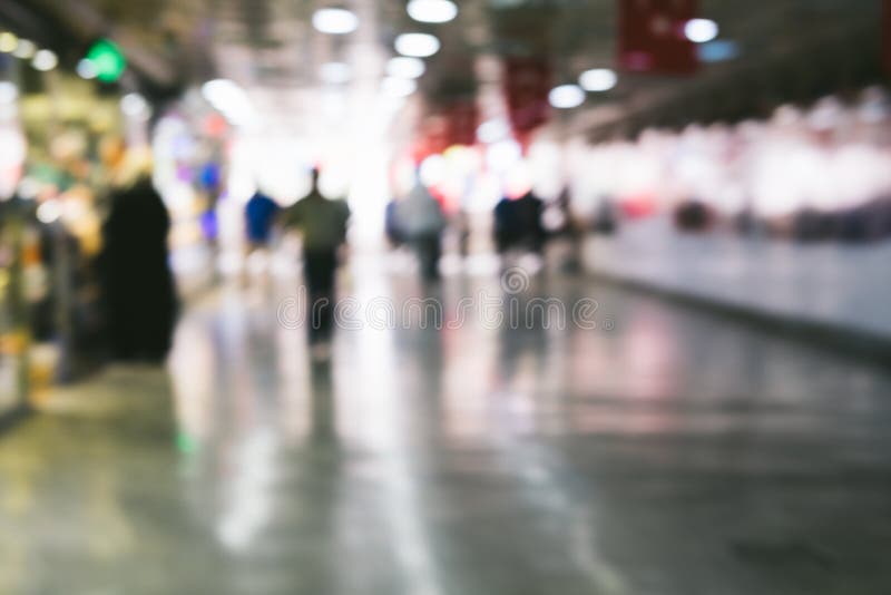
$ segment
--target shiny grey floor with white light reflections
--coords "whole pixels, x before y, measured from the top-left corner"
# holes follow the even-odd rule
[[[283,319],[293,283],[205,296],[169,373],[112,367],[0,436],[0,593],[891,593],[889,371],[530,283],[432,294],[447,320],[593,296],[596,328],[419,315],[342,329],[325,362]],[[343,287],[424,295],[368,263]]]

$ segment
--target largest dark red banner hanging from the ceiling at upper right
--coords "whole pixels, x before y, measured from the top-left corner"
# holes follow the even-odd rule
[[[697,9],[697,0],[619,0],[619,66],[636,72],[695,72],[696,45],[685,27]]]

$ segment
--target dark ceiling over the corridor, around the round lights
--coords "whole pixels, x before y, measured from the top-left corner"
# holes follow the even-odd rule
[[[336,60],[353,66],[352,86],[365,88],[376,85],[393,39],[407,31],[442,39],[442,50],[429,59],[421,80],[429,104],[474,96],[487,58],[546,57],[555,82],[616,62],[616,0],[467,0],[459,2],[454,21],[437,26],[411,21],[402,0],[345,0],[340,6],[361,19],[347,36],[312,29],[313,11],[331,6],[324,0],[13,4],[53,23],[77,41],[72,46],[112,35],[135,57],[134,66],[161,86],[224,76],[249,89],[296,96],[321,89],[319,66]],[[0,10],[0,18],[3,11],[10,9]],[[694,77],[623,74],[615,89],[589,95],[584,108],[556,120],[597,139],[650,125],[742,118],[783,100],[807,100],[877,80],[879,11],[875,0],[771,0],[756,8],[740,0],[701,0],[701,14],[718,22],[721,39],[738,43],[737,59],[709,65]]]

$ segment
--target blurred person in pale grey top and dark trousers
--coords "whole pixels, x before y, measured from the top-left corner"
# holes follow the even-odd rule
[[[425,282],[438,280],[442,232],[446,230],[446,215],[439,202],[417,177],[414,187],[394,209],[396,228],[418,256],[421,277]]]

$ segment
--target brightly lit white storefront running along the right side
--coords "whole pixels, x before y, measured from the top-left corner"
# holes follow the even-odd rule
[[[576,216],[608,231],[587,243],[588,269],[887,341],[890,106],[870,87],[768,119],[570,144]]]

